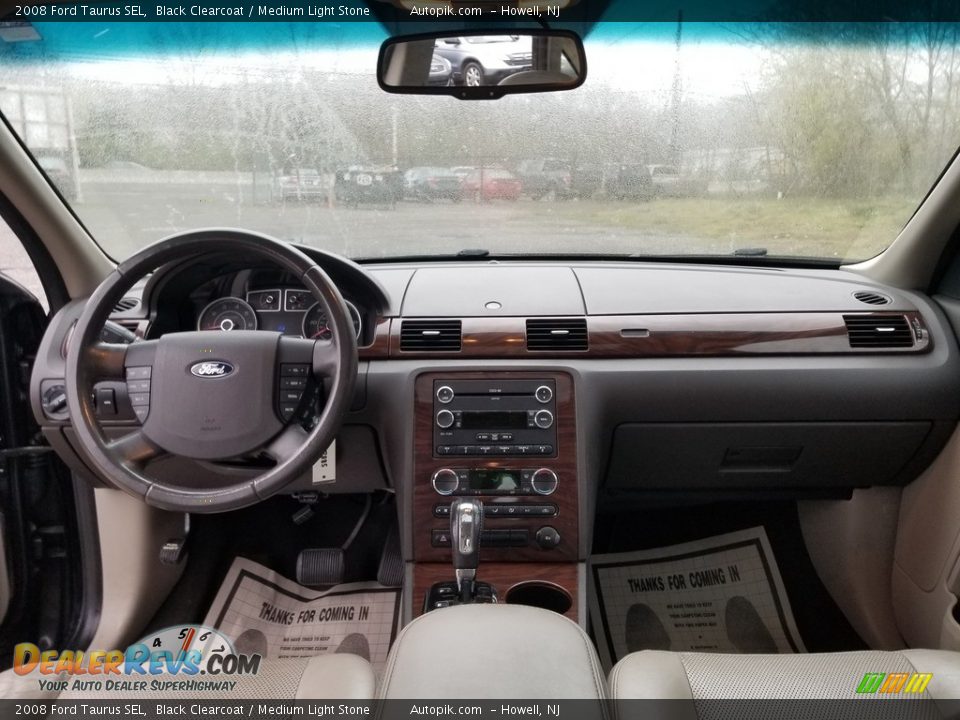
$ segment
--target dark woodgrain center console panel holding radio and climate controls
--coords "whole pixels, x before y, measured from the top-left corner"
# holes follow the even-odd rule
[[[425,373],[415,385],[414,611],[452,580],[451,505],[481,501],[479,580],[500,601],[547,582],[576,617],[579,491],[572,378]],[[512,593],[516,597],[524,593]],[[430,608],[427,608],[430,609]]]

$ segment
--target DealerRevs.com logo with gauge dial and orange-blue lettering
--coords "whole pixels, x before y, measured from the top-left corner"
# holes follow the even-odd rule
[[[13,670],[36,676],[43,691],[233,690],[235,676],[255,675],[260,655],[237,653],[223,633],[203,625],[175,625],[125,650],[41,650],[20,643]]]

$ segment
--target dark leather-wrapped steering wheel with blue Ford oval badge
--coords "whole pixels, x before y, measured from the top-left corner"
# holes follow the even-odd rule
[[[299,278],[328,308],[331,338],[235,330],[167,333],[130,345],[100,341],[113,306],[148,272],[224,251],[272,261]],[[259,502],[306,472],[335,438],[356,376],[353,323],[327,274],[299,250],[266,235],[209,229],[172,235],[141,250],[100,284],[73,330],[65,385],[79,449],[101,477],[150,505],[213,513]],[[98,380],[127,383],[141,423],[133,432],[104,437],[93,399]],[[281,396],[289,403],[287,393],[317,384],[326,402],[308,431]],[[275,464],[226,486],[198,487],[190,477],[174,485],[145,474],[147,463],[164,455],[211,461],[256,453]]]

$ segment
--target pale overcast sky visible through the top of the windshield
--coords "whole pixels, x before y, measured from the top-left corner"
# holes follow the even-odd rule
[[[202,65],[201,82],[210,84],[235,82],[251,70],[285,71],[290,77],[298,67],[373,76],[376,49],[386,37],[376,23],[319,29],[306,23],[248,23],[239,35],[236,28],[215,23],[194,24],[184,35],[175,35],[178,31],[172,25],[162,23],[152,29],[94,22],[46,23],[38,28],[44,37],[43,62],[69,58],[70,74],[147,84],[186,76],[190,65]],[[678,58],[675,32],[674,23],[615,23],[594,32],[585,41],[588,82],[641,93],[668,90]],[[161,48],[167,55],[162,60],[145,52]],[[33,49],[25,48],[22,55]],[[0,64],[4,59],[0,52]],[[743,93],[745,85],[755,87],[763,52],[723,28],[687,23],[679,60],[684,92],[708,100]]]

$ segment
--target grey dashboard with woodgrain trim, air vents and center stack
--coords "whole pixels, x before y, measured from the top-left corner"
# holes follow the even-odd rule
[[[505,583],[559,584],[576,613],[577,563],[602,513],[651,498],[832,498],[902,486],[937,456],[960,414],[951,327],[960,327],[960,302],[850,271],[586,260],[361,266],[301,249],[340,290],[358,336],[335,491],[397,494],[415,607],[449,572],[450,495],[489,504],[481,543],[491,572]],[[49,405],[82,307],[52,319],[31,385],[34,413],[67,458],[69,418]],[[157,270],[111,315],[146,339],[198,328],[323,337],[327,318],[298,278],[224,255]],[[114,391],[115,414],[100,422],[126,432],[134,411],[125,386]],[[83,472],[79,457],[71,465]],[[253,469],[170,461],[154,474],[229,479]],[[309,476],[289,488],[315,490]]]

